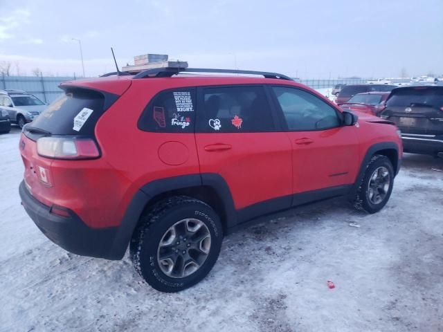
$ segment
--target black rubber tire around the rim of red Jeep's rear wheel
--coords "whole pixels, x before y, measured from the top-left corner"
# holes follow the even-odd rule
[[[210,248],[208,248],[203,263],[195,272],[185,277],[177,277],[177,275],[172,277],[166,274],[168,271],[164,272],[164,265],[163,267],[159,265],[159,250],[163,248],[161,247],[161,241],[165,239],[166,234],[174,225],[186,219],[198,219],[206,225],[206,228],[203,225],[201,226],[210,234]],[[174,234],[174,244],[172,246],[175,246],[175,236],[176,234]],[[186,238],[184,240],[186,241]],[[217,261],[222,241],[223,228],[219,216],[209,205],[187,196],[174,196],[157,203],[151,210],[145,212],[141,217],[140,225],[134,232],[129,252],[137,272],[152,288],[157,291],[172,293],[194,286],[208,275],[215,261]],[[183,246],[183,243],[181,243],[181,246]],[[199,243],[199,246],[201,246],[201,243]],[[177,250],[177,248],[173,249],[174,252]],[[189,250],[192,250],[192,248]],[[181,256],[181,259],[183,259],[183,255]],[[175,261],[177,262],[177,259]]]

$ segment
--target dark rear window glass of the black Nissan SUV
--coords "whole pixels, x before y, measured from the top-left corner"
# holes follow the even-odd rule
[[[397,89],[386,102],[387,107],[443,107],[443,88],[415,87]]]

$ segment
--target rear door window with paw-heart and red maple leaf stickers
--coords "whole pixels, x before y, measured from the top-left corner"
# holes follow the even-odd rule
[[[263,86],[203,89],[199,131],[239,133],[274,129],[271,107]]]

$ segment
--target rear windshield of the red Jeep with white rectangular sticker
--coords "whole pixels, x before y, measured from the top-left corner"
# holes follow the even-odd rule
[[[105,96],[89,89],[67,89],[28,127],[53,135],[93,136],[98,118],[105,111]]]

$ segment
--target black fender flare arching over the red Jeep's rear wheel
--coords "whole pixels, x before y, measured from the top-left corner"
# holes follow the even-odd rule
[[[181,190],[190,187],[208,186],[211,187],[219,198],[226,214],[226,227],[235,225],[236,214],[232,195],[228,184],[219,174],[203,173],[188,174],[183,176],[174,176],[172,178],[161,178],[159,180],[146,183],[137,190],[132,197],[122,222],[118,226],[116,236],[107,255],[107,259],[122,259],[132,239],[132,234],[140,220],[143,210],[155,196],[170,192],[172,190]]]

